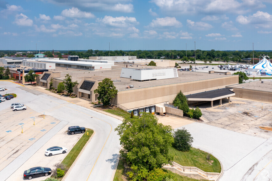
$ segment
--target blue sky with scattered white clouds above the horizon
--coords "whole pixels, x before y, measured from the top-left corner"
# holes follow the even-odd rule
[[[272,0],[0,0],[1,50],[271,50]]]

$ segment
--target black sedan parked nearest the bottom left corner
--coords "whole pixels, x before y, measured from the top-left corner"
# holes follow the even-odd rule
[[[48,176],[51,174],[51,168],[47,167],[33,167],[24,171],[24,179],[32,179],[40,176]]]

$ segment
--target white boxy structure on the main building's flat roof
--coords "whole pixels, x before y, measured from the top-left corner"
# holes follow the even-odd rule
[[[120,77],[131,78],[133,80],[160,80],[167,78],[178,78],[177,68],[126,68],[123,67]]]

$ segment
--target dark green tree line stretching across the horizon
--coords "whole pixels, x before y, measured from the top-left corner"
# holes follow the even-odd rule
[[[5,55],[11,56],[14,55],[18,50],[0,50],[0,57]],[[26,52],[17,56],[27,56],[34,57],[36,52],[27,54]],[[53,57],[51,51],[45,51],[43,54],[47,55],[47,57]],[[62,50],[60,52],[55,52],[55,54],[61,57],[61,54],[69,54],[69,55],[78,55],[79,58],[88,58],[91,56],[137,56],[137,58],[150,58],[150,59],[182,59],[184,57],[190,58],[194,57],[194,50],[82,50],[82,51],[74,51],[74,50]],[[268,55],[272,56],[272,51],[259,51],[254,50],[254,58],[259,58],[260,55]],[[198,60],[225,60],[225,61],[233,61],[233,62],[243,62],[243,58],[253,58],[252,51],[221,51],[221,50],[196,50],[196,59]]]

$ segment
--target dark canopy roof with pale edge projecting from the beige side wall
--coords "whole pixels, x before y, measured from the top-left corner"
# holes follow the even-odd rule
[[[214,101],[234,96],[233,89],[223,88],[213,91],[205,91],[197,94],[186,95],[187,101]]]

